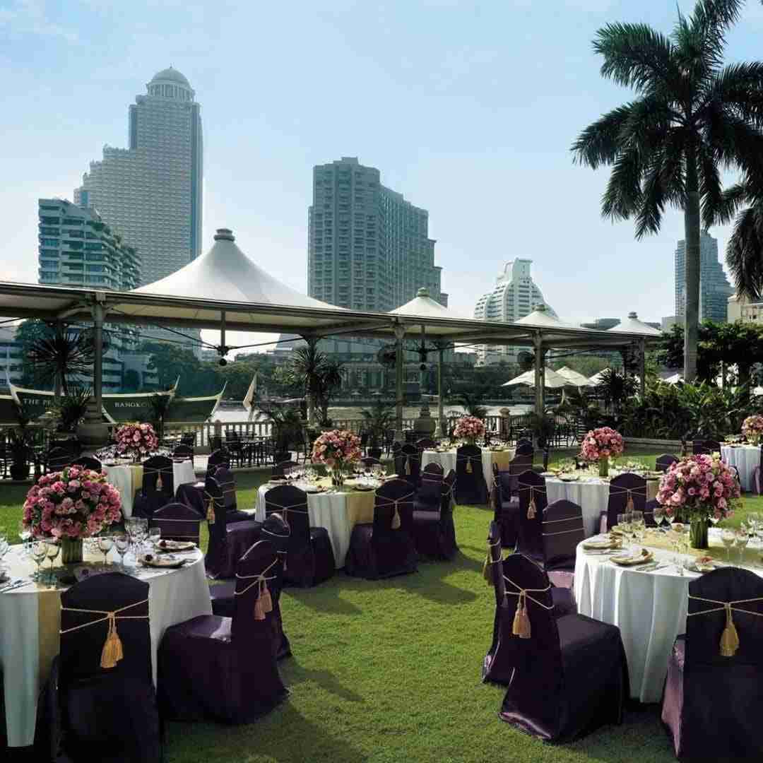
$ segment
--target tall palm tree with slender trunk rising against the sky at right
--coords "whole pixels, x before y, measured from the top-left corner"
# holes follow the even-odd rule
[[[763,177],[763,63],[723,66],[725,34],[742,0],[698,0],[680,12],[670,37],[647,24],[607,24],[594,51],[601,74],[636,99],[586,127],[575,162],[612,166],[604,217],[636,218],[636,238],[657,233],[665,206],[684,212],[686,315],[684,379],[697,369],[700,211],[704,227],[723,209],[720,169]]]

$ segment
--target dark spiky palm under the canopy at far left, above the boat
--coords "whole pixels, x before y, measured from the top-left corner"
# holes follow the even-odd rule
[[[95,345],[88,331],[64,330],[56,325],[38,336],[27,348],[25,362],[40,381],[53,378],[56,399],[61,391],[69,394],[67,378],[92,373]]]

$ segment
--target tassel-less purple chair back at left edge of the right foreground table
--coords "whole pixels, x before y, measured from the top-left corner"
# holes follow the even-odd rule
[[[585,538],[583,510],[572,501],[553,501],[543,512],[543,568],[557,588],[575,582],[575,556]]]

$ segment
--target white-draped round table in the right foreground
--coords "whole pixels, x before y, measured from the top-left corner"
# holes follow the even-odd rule
[[[720,529],[711,527],[708,536],[710,546],[722,545]],[[699,577],[690,571],[678,575],[669,563],[674,552],[653,549],[653,553],[656,562],[665,564],[655,571],[618,567],[606,556],[585,553],[582,544],[575,560],[578,612],[620,628],[630,695],[640,702],[662,700],[673,642],[686,632],[687,586]],[[761,575],[761,570],[752,571]]]

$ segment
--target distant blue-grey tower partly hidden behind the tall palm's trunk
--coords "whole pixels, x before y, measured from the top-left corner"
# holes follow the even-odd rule
[[[718,240],[709,233],[700,234],[700,320],[726,320],[729,285],[723,266],[718,261]],[[686,241],[675,250],[675,314],[683,322],[686,314]]]

